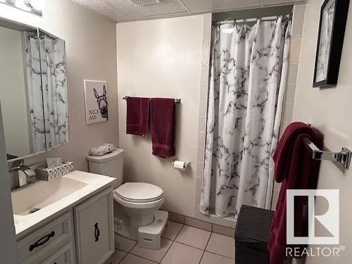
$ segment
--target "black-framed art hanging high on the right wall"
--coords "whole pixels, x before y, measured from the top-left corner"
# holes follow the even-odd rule
[[[337,84],[349,0],[325,0],[320,10],[313,87]]]

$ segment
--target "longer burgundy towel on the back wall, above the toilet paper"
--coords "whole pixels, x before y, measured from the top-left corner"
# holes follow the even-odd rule
[[[153,155],[175,156],[175,99],[151,99],[151,143]]]

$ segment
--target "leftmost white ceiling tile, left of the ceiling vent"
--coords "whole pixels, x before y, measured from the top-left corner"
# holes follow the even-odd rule
[[[110,4],[106,3],[106,1],[96,1],[96,0],[73,0],[82,6],[86,6],[101,15],[105,15],[116,22],[131,20],[131,18],[124,13],[118,11],[116,8],[113,8]]]

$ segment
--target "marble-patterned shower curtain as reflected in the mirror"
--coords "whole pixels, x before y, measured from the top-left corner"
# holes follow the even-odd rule
[[[68,142],[65,61],[65,42],[62,39],[30,37],[27,83],[34,153]]]

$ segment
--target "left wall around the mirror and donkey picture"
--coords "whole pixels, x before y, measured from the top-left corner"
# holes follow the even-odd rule
[[[115,23],[69,0],[46,0],[42,18],[1,4],[0,17],[41,27],[66,42],[70,143],[26,162],[62,156],[73,161],[77,170],[87,170],[85,156],[90,146],[118,144]],[[108,82],[108,122],[85,124],[84,79]]]

